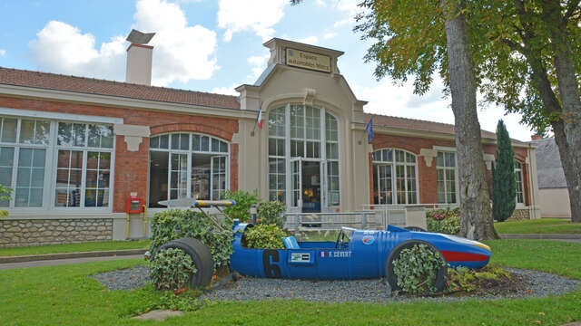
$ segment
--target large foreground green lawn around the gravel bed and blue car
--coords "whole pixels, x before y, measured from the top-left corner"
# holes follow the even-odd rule
[[[581,279],[581,244],[496,240],[493,263]],[[143,260],[0,271],[2,325],[153,325],[132,321],[159,297],[147,290],[106,291],[87,275]],[[581,289],[560,297],[462,302],[318,303],[270,300],[217,302],[164,325],[560,325],[581,320]]]

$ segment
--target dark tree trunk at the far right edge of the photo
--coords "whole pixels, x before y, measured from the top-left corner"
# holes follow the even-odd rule
[[[567,21],[559,2],[543,2],[543,20],[549,28],[555,51],[556,80],[563,105],[561,123],[553,128],[555,141],[569,190],[571,219],[581,222],[581,99],[571,44],[567,38]]]

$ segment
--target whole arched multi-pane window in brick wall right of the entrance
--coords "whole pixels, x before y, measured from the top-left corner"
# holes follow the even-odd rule
[[[373,152],[374,204],[417,204],[418,159],[402,149]]]

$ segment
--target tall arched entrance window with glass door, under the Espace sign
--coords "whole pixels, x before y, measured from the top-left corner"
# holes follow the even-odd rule
[[[290,210],[340,206],[339,123],[324,109],[287,104],[269,112],[269,198]]]

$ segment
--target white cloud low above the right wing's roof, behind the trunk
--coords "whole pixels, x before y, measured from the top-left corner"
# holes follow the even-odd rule
[[[438,78],[423,96],[413,94],[413,82],[409,81],[399,86],[385,79],[374,86],[362,87],[351,84],[357,98],[369,101],[364,107],[366,112],[389,116],[430,120],[454,124],[454,113],[450,107],[450,99],[442,99],[443,85]],[[502,107],[490,105],[486,110],[478,110],[478,120],[481,129],[494,132],[497,129],[499,119],[507,124],[510,137],[523,141],[530,140],[531,131],[518,122],[517,114],[505,115]]]

